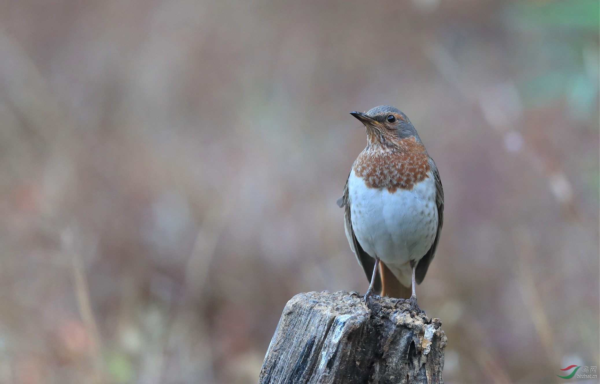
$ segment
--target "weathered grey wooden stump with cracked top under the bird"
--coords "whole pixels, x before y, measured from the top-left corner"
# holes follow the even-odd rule
[[[367,307],[358,293],[299,293],[287,302],[259,384],[442,383],[446,335],[403,299]]]

